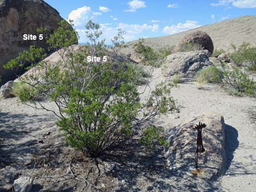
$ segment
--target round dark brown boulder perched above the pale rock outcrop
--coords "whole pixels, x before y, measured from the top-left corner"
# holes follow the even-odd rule
[[[211,54],[214,52],[214,44],[211,37],[200,30],[186,35],[178,44],[176,49],[178,50],[184,44],[196,44],[199,48],[208,50]]]

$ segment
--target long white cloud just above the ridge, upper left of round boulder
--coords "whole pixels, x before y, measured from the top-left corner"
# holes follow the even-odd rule
[[[197,27],[200,27],[197,21],[186,21],[185,23],[178,23],[176,25],[173,24],[172,26],[166,26],[163,28],[163,32],[166,34],[175,34]]]

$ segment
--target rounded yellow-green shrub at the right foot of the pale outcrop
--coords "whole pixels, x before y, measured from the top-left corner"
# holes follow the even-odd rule
[[[217,69],[215,65],[211,65],[198,72],[196,76],[196,81],[198,83],[201,83],[201,82],[220,83],[221,77],[222,77],[221,70]]]

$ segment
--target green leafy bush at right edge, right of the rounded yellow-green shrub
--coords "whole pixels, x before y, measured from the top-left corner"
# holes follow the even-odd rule
[[[222,78],[225,84],[247,96],[255,96],[255,82],[245,72],[235,66],[231,70],[227,70],[224,64],[222,64],[222,69]]]

